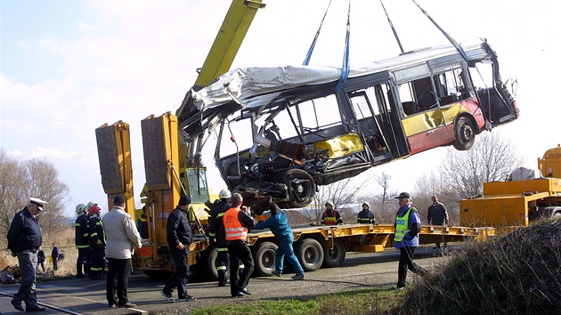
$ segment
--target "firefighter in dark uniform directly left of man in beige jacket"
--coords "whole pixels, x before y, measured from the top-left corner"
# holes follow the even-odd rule
[[[90,206],[88,210],[90,220],[89,246],[90,246],[90,279],[103,280],[102,272],[105,267],[105,233],[103,231],[102,209],[99,206]]]

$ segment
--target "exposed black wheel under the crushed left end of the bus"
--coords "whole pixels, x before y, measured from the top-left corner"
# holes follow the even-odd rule
[[[312,175],[305,170],[293,168],[280,173],[276,182],[287,185],[289,193],[289,208],[308,206],[315,197],[315,182]]]

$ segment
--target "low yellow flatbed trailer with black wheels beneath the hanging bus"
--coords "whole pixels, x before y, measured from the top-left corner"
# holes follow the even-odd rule
[[[292,233],[294,252],[304,271],[338,267],[345,262],[347,252],[378,253],[394,246],[393,224],[295,226],[292,227]],[[495,235],[494,228],[427,225],[419,232],[419,242],[423,245],[437,242],[483,241]],[[190,264],[194,265],[194,271],[204,272],[211,279],[217,279],[216,248],[208,246],[203,238],[195,238],[191,244]],[[248,233],[248,245],[256,265],[254,275],[271,276],[275,269],[275,252],[279,240],[271,230],[252,230]],[[146,272],[146,269],[144,271]]]

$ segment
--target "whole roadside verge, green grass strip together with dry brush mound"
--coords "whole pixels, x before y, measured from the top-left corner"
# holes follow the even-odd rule
[[[372,287],[337,295],[239,303],[214,314],[558,314],[561,221],[541,221],[469,243],[402,292]]]

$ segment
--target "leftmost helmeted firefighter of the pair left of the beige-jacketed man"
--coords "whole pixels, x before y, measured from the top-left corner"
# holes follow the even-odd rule
[[[76,206],[76,248],[78,250],[78,257],[76,260],[76,278],[84,278],[84,274],[89,274],[90,272],[90,232],[87,228],[88,218],[85,212],[86,206],[84,204],[79,204]],[[84,271],[82,271],[84,267]]]

